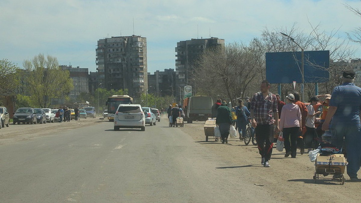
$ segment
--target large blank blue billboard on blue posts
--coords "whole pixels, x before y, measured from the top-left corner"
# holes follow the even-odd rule
[[[305,83],[328,82],[330,51],[304,51]],[[266,79],[270,83],[302,83],[301,52],[266,53]]]

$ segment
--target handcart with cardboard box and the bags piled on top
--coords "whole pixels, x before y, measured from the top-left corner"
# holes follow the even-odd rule
[[[343,174],[347,162],[344,155],[341,154],[342,150],[338,150],[330,143],[323,142],[321,139],[319,139],[319,142],[320,146],[308,153],[310,160],[315,162],[314,182],[316,183],[321,178],[320,175],[323,175],[322,178],[339,180],[341,185],[343,185],[345,183]],[[332,175],[332,177],[326,178],[328,175]]]

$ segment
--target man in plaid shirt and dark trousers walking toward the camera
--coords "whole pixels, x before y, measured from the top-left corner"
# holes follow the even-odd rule
[[[270,167],[268,161],[272,154],[273,134],[274,131],[279,132],[277,98],[269,92],[269,88],[269,82],[262,81],[261,91],[253,95],[249,109],[252,126],[256,129],[258,150],[262,156],[261,164],[264,167]]]

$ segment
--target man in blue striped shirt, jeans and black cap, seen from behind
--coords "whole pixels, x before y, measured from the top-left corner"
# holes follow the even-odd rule
[[[361,162],[361,88],[353,83],[354,79],[355,72],[352,70],[343,72],[342,85],[335,87],[332,91],[332,98],[322,130],[328,130],[331,122],[331,144],[338,149],[343,147],[345,138],[347,174],[351,181],[358,181],[357,172]],[[338,177],[334,176],[334,178]]]

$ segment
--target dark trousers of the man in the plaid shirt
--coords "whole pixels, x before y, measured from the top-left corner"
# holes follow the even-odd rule
[[[272,147],[273,147],[273,131],[274,125],[259,125],[256,127],[256,140],[258,151],[265,161],[271,159]]]

